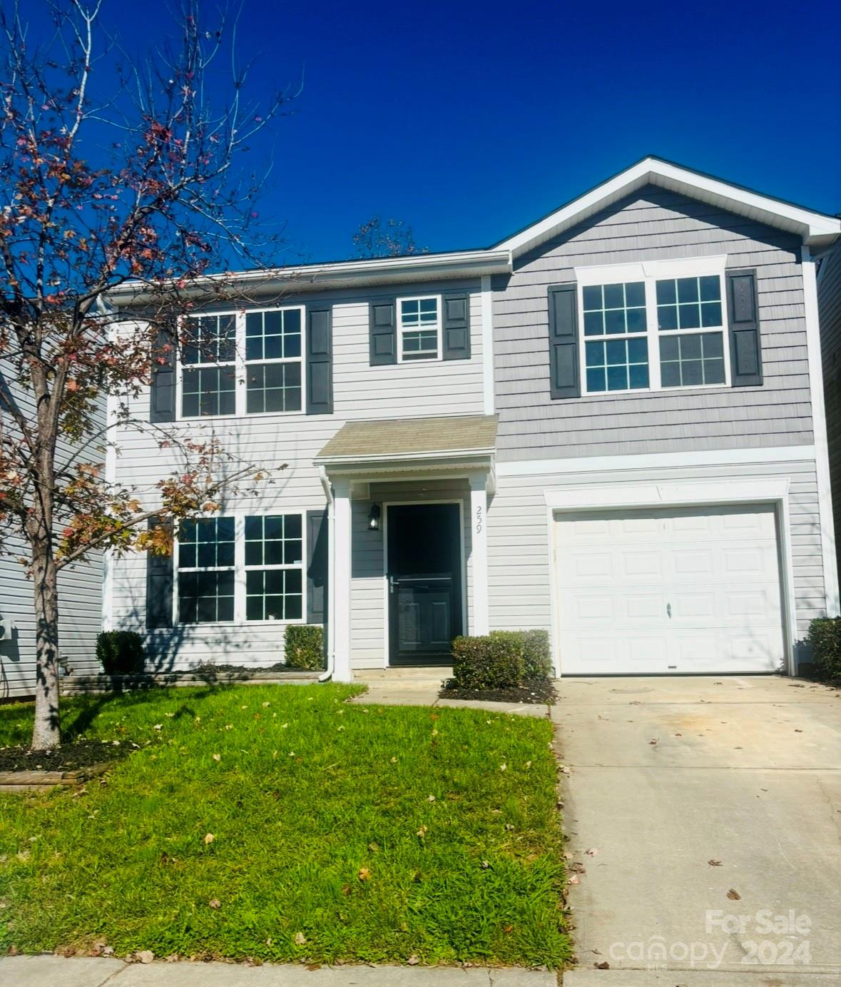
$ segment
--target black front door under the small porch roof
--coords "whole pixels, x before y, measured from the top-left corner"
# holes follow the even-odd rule
[[[450,642],[462,633],[458,504],[387,509],[389,663],[449,664]]]

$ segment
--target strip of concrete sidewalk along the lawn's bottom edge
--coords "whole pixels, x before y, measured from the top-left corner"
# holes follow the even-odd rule
[[[6,956],[4,987],[555,987],[554,973],[453,966],[242,966],[236,963],[124,963],[121,959]]]

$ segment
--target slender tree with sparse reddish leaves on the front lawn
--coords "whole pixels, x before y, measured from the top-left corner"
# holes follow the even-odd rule
[[[200,429],[132,418],[128,399],[174,347],[195,343],[179,316],[198,304],[196,286],[232,297],[224,272],[261,266],[272,248],[255,209],[264,176],[240,158],[290,94],[246,104],[233,25],[205,25],[198,0],[183,0],[177,37],[140,64],[105,33],[100,8],[53,0],[40,45],[19,9],[0,11],[0,533],[29,550],[36,749],[60,739],[59,569],[104,549],[168,553],[167,525],[150,518],[218,509],[223,492],[264,479]],[[222,75],[226,103],[214,108]],[[223,276],[208,281],[209,270]],[[109,297],[126,281],[142,286],[142,319],[117,326]],[[106,396],[116,413],[103,424]],[[151,509],[105,474],[117,427],[152,429],[178,462]]]

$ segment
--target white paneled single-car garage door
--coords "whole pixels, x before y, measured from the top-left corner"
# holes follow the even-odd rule
[[[783,666],[772,506],[559,513],[555,534],[562,673]]]

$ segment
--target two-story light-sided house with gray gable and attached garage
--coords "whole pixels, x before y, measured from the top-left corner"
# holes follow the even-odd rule
[[[324,622],[344,680],[511,628],[561,674],[794,670],[838,612],[814,257],[839,233],[646,158],[488,249],[243,273],[135,411],[286,469],[171,560],[110,565],[109,622],[182,666]],[[134,438],[113,468],[154,505],[166,457]]]

